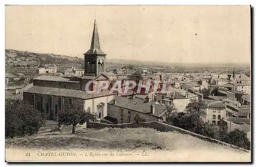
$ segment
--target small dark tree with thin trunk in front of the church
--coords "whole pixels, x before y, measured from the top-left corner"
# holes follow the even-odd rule
[[[90,112],[83,112],[82,106],[79,104],[70,104],[64,107],[58,114],[58,126],[72,125],[72,134],[75,133],[77,124],[83,124],[87,121],[96,121],[97,115]]]

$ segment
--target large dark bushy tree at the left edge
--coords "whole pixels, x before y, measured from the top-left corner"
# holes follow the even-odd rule
[[[40,112],[28,101],[6,99],[5,104],[6,138],[36,133],[44,124]]]

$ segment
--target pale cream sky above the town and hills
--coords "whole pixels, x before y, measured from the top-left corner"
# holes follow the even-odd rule
[[[6,6],[6,49],[108,59],[250,63],[250,6]]]

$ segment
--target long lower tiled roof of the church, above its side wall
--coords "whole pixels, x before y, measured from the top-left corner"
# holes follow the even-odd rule
[[[28,90],[24,91],[27,93],[42,94],[42,95],[53,95],[53,96],[63,96],[63,97],[73,97],[79,99],[90,99],[100,96],[112,95],[108,90],[102,90],[101,93],[91,94],[86,91],[78,91],[72,89],[62,89],[62,88],[51,88],[51,87],[38,87],[32,86]]]

